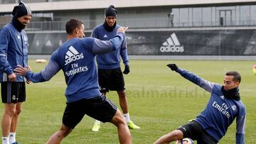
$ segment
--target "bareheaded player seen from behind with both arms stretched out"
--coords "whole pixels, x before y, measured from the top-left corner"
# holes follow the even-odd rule
[[[112,101],[100,94],[95,65],[96,54],[119,48],[127,28],[120,27],[114,38],[107,41],[82,38],[85,36],[85,27],[76,19],[68,21],[65,28],[68,41],[53,52],[44,70],[39,73],[33,73],[23,67],[15,70],[16,74],[21,74],[32,82],[46,82],[58,71],[63,70],[65,82],[68,85],[65,91],[67,105],[63,114],[63,124],[59,131],[50,136],[47,143],[60,143],[85,114],[99,121],[113,123],[117,126],[119,142],[132,143],[124,116]]]

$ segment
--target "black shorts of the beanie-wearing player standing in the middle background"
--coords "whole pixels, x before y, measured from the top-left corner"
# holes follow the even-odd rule
[[[98,70],[100,92],[124,91],[124,76],[121,68],[113,70]]]

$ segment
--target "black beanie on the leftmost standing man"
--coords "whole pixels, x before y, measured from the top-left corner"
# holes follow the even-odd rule
[[[21,16],[26,16],[26,15],[31,15],[32,16],[32,11],[22,1],[18,4],[18,6],[14,6],[14,10],[11,13],[14,17],[19,18]]]

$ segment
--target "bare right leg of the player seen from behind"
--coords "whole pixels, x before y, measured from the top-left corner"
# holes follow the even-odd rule
[[[110,123],[113,123],[115,126],[117,126],[119,143],[132,144],[132,135],[129,132],[129,128],[124,119],[124,116],[122,116],[122,113],[118,109]]]

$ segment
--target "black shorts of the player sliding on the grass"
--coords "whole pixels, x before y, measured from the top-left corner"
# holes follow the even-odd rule
[[[216,140],[210,136],[206,131],[203,130],[202,126],[196,122],[191,121],[183,126],[177,128],[177,130],[182,131],[183,138],[191,138],[192,140],[197,140],[198,144],[216,144]]]

